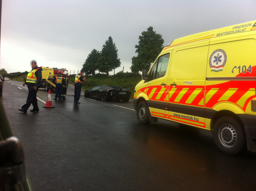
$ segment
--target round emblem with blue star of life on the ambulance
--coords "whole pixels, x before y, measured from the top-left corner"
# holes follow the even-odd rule
[[[222,49],[215,50],[209,59],[209,64],[211,67],[211,71],[213,72],[220,72],[223,70],[227,61],[226,52]]]

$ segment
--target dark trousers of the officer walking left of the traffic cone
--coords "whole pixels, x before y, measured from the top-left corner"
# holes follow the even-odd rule
[[[30,107],[31,103],[33,105],[33,110],[34,111],[39,111],[39,108],[38,108],[38,105],[37,105],[37,98],[36,98],[36,93],[38,91],[38,88],[37,90],[34,90],[34,84],[32,83],[27,83],[28,85],[28,98],[27,98],[27,103],[22,105],[22,109],[24,109],[25,111],[28,110],[28,108]]]

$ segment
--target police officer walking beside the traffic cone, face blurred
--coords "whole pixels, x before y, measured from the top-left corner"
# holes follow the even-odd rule
[[[25,84],[28,86],[28,98],[27,98],[26,104],[22,105],[21,109],[19,109],[19,111],[22,111],[24,113],[27,112],[31,103],[33,105],[33,109],[30,111],[32,112],[39,111],[39,108],[37,105],[36,93],[38,91],[40,82],[42,80],[42,68],[37,67],[35,60],[32,60],[30,64],[32,66],[32,70],[28,73],[27,79],[23,82],[23,86],[25,86]]]

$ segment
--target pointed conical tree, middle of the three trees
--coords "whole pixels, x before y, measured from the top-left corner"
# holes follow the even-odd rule
[[[100,59],[98,62],[98,70],[100,72],[109,74],[115,68],[120,67],[121,62],[117,54],[116,44],[113,43],[112,37],[108,37],[108,40],[102,47],[100,53]]]

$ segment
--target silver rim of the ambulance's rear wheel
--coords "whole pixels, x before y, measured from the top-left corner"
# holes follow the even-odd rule
[[[225,147],[233,147],[236,144],[236,130],[230,124],[223,124],[220,127],[218,137]]]

